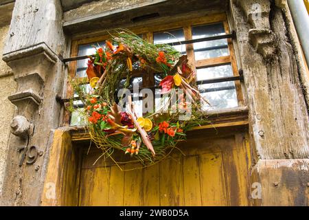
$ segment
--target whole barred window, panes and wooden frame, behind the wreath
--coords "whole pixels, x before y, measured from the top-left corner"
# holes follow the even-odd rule
[[[163,24],[154,25],[152,27],[136,28],[133,30],[136,34],[143,37],[147,41],[155,44],[159,43],[172,43],[177,41],[186,41],[192,39],[203,39],[205,37],[219,36],[229,34],[229,28],[225,15],[212,17],[205,17],[199,19],[187,19],[183,22],[175,24]],[[92,45],[104,45],[106,36],[84,41],[74,41],[72,48],[72,56],[89,55],[93,54]],[[225,109],[238,107],[242,104],[242,91],[240,89],[240,82],[228,81],[222,83],[209,83],[209,80],[238,76],[238,69],[236,67],[236,61],[233,54],[233,45],[231,39],[217,39],[213,41],[202,41],[198,43],[192,43],[187,45],[175,45],[174,48],[181,52],[181,54],[187,54],[190,64],[196,69],[196,83],[198,89],[202,95],[209,100],[211,107],[205,104],[204,110],[207,109]],[[76,67],[74,68],[74,65]],[[87,60],[77,61],[76,64],[71,64],[71,76],[82,78],[85,77],[85,70],[87,69]],[[162,78],[162,74],[158,73],[139,73],[133,76],[131,80],[131,89],[134,83],[139,83],[141,88],[159,89],[159,83]],[[208,81],[208,82],[207,82]],[[121,88],[124,82],[120,82],[119,88]],[[137,97],[137,94],[133,94]],[[155,105],[160,107],[162,103],[159,103],[161,94],[157,92],[155,94]],[[141,115],[141,107],[143,104],[143,97],[139,97],[139,100],[135,101],[135,105]],[[76,101],[76,107],[78,101]],[[71,125],[80,123],[78,115],[71,115]]]

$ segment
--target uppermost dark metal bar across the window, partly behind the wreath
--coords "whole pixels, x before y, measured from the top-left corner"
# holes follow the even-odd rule
[[[201,39],[192,39],[192,40],[187,40],[187,41],[175,41],[175,42],[166,43],[166,44],[176,46],[176,45],[186,45],[190,43],[198,43],[198,42],[204,42],[204,41],[215,41],[215,40],[220,40],[220,39],[235,39],[235,38],[236,38],[236,34],[235,32],[232,32],[231,34],[223,34],[223,35],[218,35],[218,36],[207,36]],[[67,63],[71,61],[80,61],[80,60],[89,58],[89,56],[93,56],[93,54],[64,58],[62,61],[63,63]]]

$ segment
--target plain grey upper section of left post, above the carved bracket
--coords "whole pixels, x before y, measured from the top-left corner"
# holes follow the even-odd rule
[[[63,52],[60,1],[16,1],[10,25],[10,37],[3,54],[45,43],[55,54]],[[14,33],[14,34],[12,34]],[[50,37],[52,36],[52,37]]]

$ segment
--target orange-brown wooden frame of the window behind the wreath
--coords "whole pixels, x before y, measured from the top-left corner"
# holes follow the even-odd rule
[[[132,32],[135,34],[142,34],[143,39],[148,42],[153,42],[153,33],[155,32],[164,32],[167,30],[175,30],[175,29],[183,29],[183,33],[185,36],[185,41],[192,39],[192,26],[196,25],[208,25],[214,23],[222,23],[225,29],[225,34],[230,34],[229,25],[227,22],[227,16],[225,13],[220,14],[211,14],[205,17],[199,18],[183,18],[179,21],[172,22],[172,23],[163,23],[157,25],[137,25],[134,28],[130,28]],[[72,39],[71,41],[71,57],[78,56],[78,47],[80,45],[86,45],[90,43],[97,43],[100,41],[106,41],[109,39],[108,34],[100,34],[100,36],[91,36],[83,39]],[[229,50],[228,56],[219,56],[215,58],[207,58],[199,61],[195,61],[194,57],[194,44],[187,44],[185,45],[187,57],[189,60],[190,65],[192,65],[194,71],[196,69],[206,68],[206,67],[214,67],[220,65],[231,65],[233,76],[239,76],[238,67],[236,63],[236,56],[233,49],[233,41],[232,39],[227,39],[227,47]],[[77,70],[77,62],[78,61],[71,61],[69,63],[69,77],[75,78],[76,70]],[[135,76],[135,75],[133,75]],[[136,74],[137,76],[142,76],[142,85],[143,87],[153,87],[155,85],[155,77],[154,73],[150,72],[148,74]],[[244,96],[242,93],[242,86],[240,81],[234,81],[236,87],[236,96],[238,100],[238,107],[244,107]],[[66,97],[73,97],[73,88],[67,82],[67,92],[65,94]],[[221,109],[220,109],[221,110]],[[223,116],[222,116],[223,117]],[[65,111],[64,116],[64,125],[70,126],[71,114],[69,111]]]

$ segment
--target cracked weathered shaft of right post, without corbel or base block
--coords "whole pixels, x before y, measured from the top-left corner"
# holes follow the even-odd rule
[[[238,36],[234,46],[238,48],[250,109],[251,145],[262,159],[308,158],[308,108],[299,81],[297,57],[288,39],[282,10],[275,4],[270,7],[270,16],[262,17],[261,24],[271,23],[270,31],[276,38],[271,47],[275,53],[265,61],[249,43],[252,27],[243,9],[231,1],[231,22]]]

